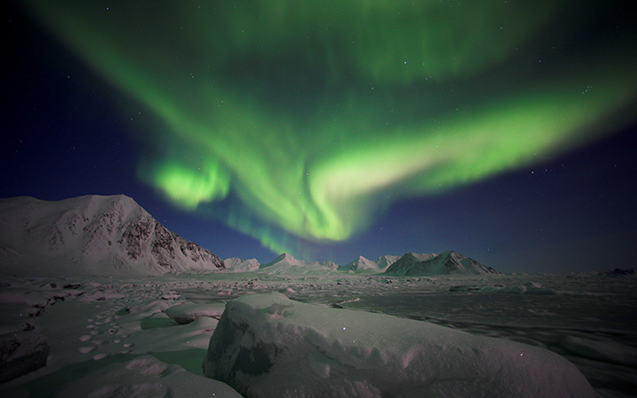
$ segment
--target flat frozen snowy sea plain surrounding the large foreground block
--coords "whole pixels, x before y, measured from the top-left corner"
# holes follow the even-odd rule
[[[3,333],[27,327],[50,343],[47,365],[0,384],[4,396],[65,396],[73,390],[64,387],[76,380],[149,355],[203,379],[201,364],[217,320],[200,318],[180,325],[165,310],[184,303],[219,305],[267,292],[548,348],[575,364],[597,396],[637,396],[634,276],[301,278],[223,273],[150,279],[3,278],[0,283]]]

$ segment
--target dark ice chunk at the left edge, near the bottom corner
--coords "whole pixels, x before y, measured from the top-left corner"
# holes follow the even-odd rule
[[[0,383],[15,379],[46,365],[49,341],[34,332],[0,336]]]

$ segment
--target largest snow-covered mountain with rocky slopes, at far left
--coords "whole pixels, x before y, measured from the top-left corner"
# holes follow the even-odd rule
[[[125,195],[0,199],[0,273],[158,275],[224,270]]]

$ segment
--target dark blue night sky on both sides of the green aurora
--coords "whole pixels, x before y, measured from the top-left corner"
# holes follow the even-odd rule
[[[223,223],[165,201],[135,172],[150,115],[23,11],[4,4],[0,197],[129,195],[167,228],[221,257],[276,253]],[[633,103],[634,105],[634,103]],[[568,103],[564,103],[568,106]],[[627,113],[633,112],[634,108]],[[626,111],[623,112],[626,114]],[[609,125],[613,120],[608,120]],[[630,268],[637,258],[637,125],[541,164],[376,214],[348,241],[300,239],[319,261],[453,249],[503,272]]]

